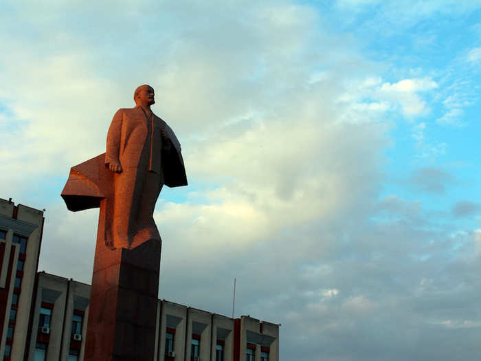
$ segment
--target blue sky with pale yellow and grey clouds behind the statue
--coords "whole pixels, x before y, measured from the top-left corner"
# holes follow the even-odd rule
[[[182,144],[159,297],[282,323],[282,361],[478,360],[480,1],[0,6],[2,194],[40,267],[89,282],[69,168],[135,87]],[[212,295],[215,295],[214,297]]]

